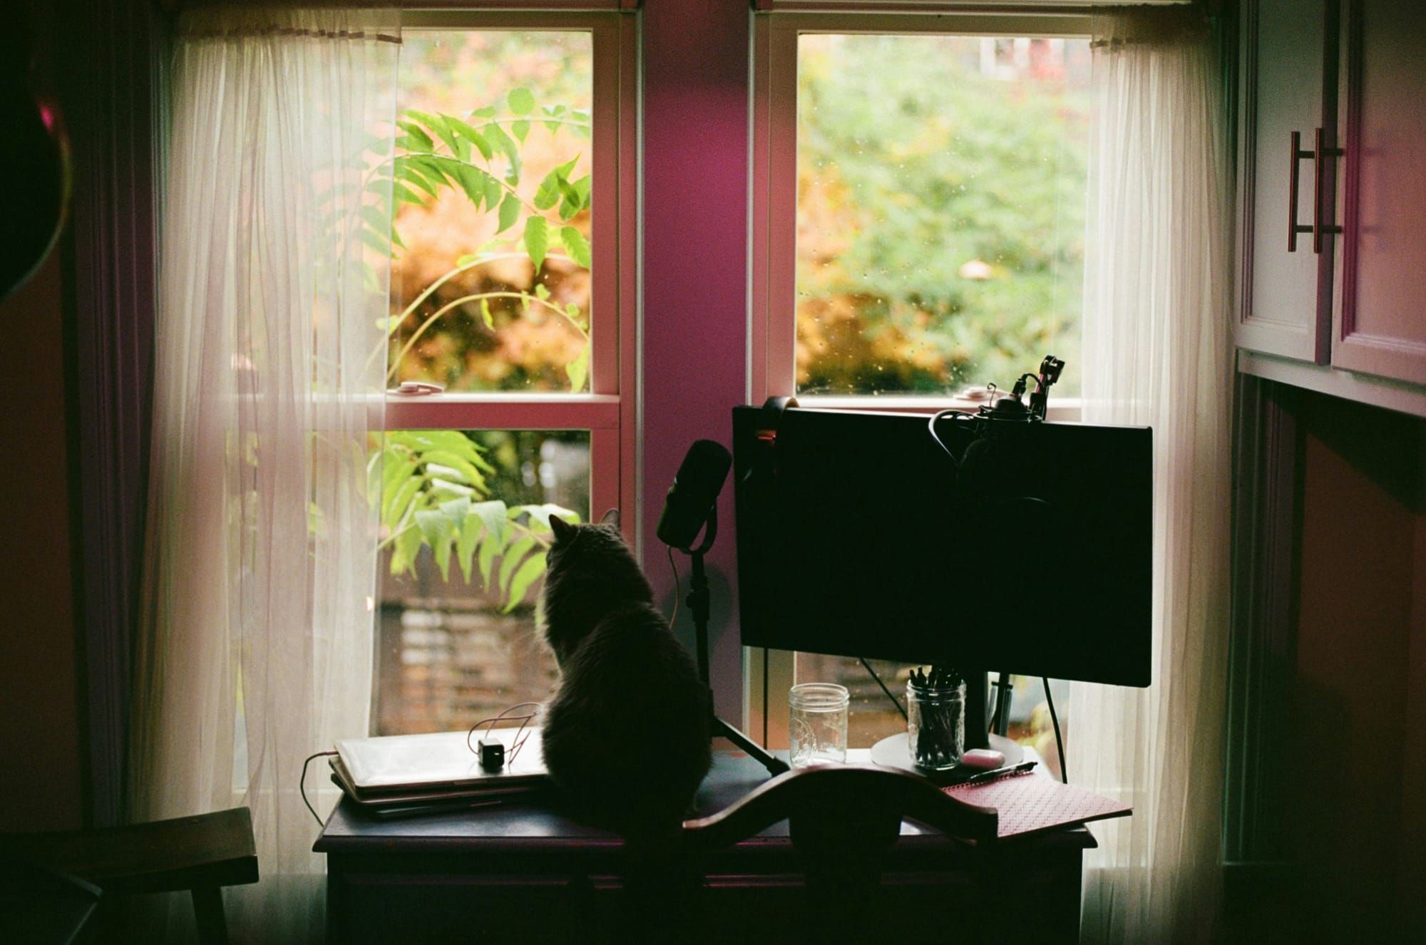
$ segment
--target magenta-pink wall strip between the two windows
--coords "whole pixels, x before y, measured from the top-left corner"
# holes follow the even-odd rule
[[[643,563],[672,600],[663,499],[696,439],[732,448],[747,391],[746,0],[646,0],[643,13]],[[697,368],[693,368],[693,362]],[[710,666],[723,718],[740,716],[732,489],[707,556]],[[689,560],[674,553],[687,593]],[[677,630],[693,640],[687,607]]]

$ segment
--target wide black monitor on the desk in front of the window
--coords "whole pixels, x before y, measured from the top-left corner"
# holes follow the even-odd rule
[[[928,419],[733,409],[743,644],[1148,686],[1152,432]]]

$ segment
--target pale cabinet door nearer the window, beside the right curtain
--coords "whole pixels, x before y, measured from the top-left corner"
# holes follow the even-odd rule
[[[1326,363],[1332,329],[1332,241],[1313,251],[1315,133],[1336,121],[1336,0],[1245,0],[1239,95],[1239,285],[1235,339],[1241,348]],[[1333,170],[1323,168],[1330,191]],[[1296,205],[1289,217],[1293,178]],[[1322,195],[1330,214],[1330,194]]]

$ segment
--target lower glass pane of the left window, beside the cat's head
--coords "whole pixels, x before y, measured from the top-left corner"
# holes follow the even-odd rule
[[[399,449],[402,435],[421,433],[432,432],[389,432],[388,455],[392,440]],[[580,520],[589,517],[588,430],[435,433],[468,439],[489,465],[481,487],[468,497],[506,503],[508,550],[492,553],[482,567],[482,550],[476,546],[471,553],[471,580],[466,580],[459,560],[459,536],[451,537],[451,560],[442,574],[431,543],[406,554],[392,540],[399,523],[384,523],[386,546],[379,574],[374,723],[378,735],[468,728],[515,703],[539,701],[549,694],[556,678],[555,659],[535,629],[535,596],[543,576],[540,536],[548,536],[548,529],[519,507],[553,503],[576,512]],[[435,465],[434,473],[426,463],[421,475],[448,476],[439,462]],[[453,485],[469,487],[465,482]],[[396,489],[384,492],[394,495]],[[425,507],[439,509],[462,495],[459,487],[432,495]],[[481,527],[469,517],[462,525]],[[522,550],[519,542],[532,535],[538,540]],[[481,542],[486,540],[489,535],[481,533]],[[525,562],[536,564],[525,573],[529,583],[519,590]],[[392,573],[394,563],[396,573]],[[488,579],[482,577],[485,569]]]

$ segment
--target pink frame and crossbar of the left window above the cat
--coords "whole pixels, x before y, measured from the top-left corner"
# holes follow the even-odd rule
[[[619,11],[411,11],[405,31],[533,30],[592,37],[588,393],[386,392],[385,429],[589,430],[589,516],[637,509],[637,31]],[[610,208],[610,210],[600,210]],[[622,516],[636,547],[637,515]]]

